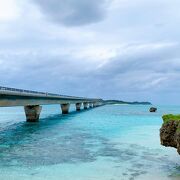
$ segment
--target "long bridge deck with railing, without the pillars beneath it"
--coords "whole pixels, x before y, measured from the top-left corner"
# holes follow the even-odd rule
[[[47,92],[0,87],[0,106],[27,106],[43,104],[65,104],[100,102],[102,99],[66,96]]]

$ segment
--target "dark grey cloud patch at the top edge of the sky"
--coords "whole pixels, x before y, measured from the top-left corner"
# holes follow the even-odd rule
[[[106,0],[34,0],[49,19],[66,26],[99,22],[106,14]]]

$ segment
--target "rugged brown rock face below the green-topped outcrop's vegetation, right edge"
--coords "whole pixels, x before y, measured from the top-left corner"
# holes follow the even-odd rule
[[[160,129],[161,144],[166,147],[174,147],[180,154],[180,120],[164,120]]]

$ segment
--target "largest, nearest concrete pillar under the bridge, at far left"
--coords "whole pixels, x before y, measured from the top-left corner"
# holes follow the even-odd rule
[[[24,107],[27,122],[38,122],[42,106],[25,106]]]

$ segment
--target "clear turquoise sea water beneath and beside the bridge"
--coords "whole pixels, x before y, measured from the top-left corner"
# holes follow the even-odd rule
[[[180,180],[180,156],[160,145],[161,116],[180,106],[107,105],[61,115],[0,108],[0,180]]]

